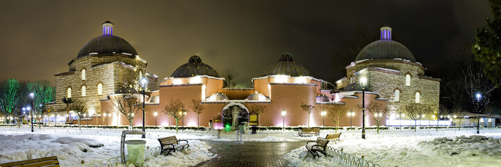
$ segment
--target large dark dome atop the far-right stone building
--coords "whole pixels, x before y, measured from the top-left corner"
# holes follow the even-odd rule
[[[364,47],[355,61],[365,59],[394,59],[402,58],[412,62],[416,62],[413,54],[407,47],[394,40],[377,40]]]

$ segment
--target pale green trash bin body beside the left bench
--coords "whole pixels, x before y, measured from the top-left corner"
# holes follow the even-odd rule
[[[142,166],[145,163],[145,145],[146,141],[131,140],[125,141],[127,145],[127,162],[126,165],[134,164],[134,166]]]

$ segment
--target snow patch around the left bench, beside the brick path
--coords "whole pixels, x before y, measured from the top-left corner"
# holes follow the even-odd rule
[[[173,152],[172,155],[164,156],[159,155],[149,161],[145,161],[145,166],[160,167],[160,166],[196,166],[197,164],[207,161],[216,157],[217,155],[211,154],[208,150],[210,146],[202,141],[188,141],[189,148],[184,148]]]

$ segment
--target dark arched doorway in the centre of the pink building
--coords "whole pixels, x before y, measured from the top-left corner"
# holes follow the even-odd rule
[[[222,124],[235,129],[240,122],[249,122],[249,109],[241,103],[231,102],[222,109]]]

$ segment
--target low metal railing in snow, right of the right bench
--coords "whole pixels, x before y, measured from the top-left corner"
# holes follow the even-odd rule
[[[327,153],[331,157],[335,157],[339,159],[338,163],[343,166],[356,166],[356,167],[381,167],[378,164],[374,164],[371,161],[367,161],[366,159],[363,159],[363,156],[361,159],[343,152],[343,149],[337,150],[336,148],[331,148],[327,146]]]

